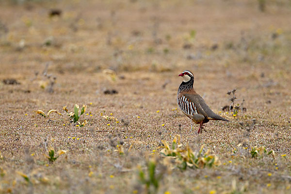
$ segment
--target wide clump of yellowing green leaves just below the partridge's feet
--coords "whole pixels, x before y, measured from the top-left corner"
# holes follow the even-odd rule
[[[180,149],[182,146],[180,135],[175,136],[171,147],[166,141],[162,141],[162,143],[163,149],[160,153],[165,157],[174,158],[178,167],[182,170],[186,170],[187,167],[204,168],[220,165],[220,160],[215,155],[210,154],[209,149],[206,152],[203,151],[204,146],[201,146],[198,152],[192,151],[188,145],[185,149]]]

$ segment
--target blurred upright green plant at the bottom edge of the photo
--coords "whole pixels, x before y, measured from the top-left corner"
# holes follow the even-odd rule
[[[155,160],[150,160],[147,162],[147,175],[146,171],[142,168],[139,169],[139,179],[142,184],[146,185],[146,190],[148,194],[157,193],[159,189],[159,182],[162,179],[163,173],[156,173],[157,162]],[[152,190],[154,190],[152,192]]]

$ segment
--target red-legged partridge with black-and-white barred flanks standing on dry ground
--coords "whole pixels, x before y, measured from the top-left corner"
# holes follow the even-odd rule
[[[178,106],[194,123],[200,124],[198,134],[202,133],[203,124],[210,120],[229,121],[213,113],[204,99],[195,92],[193,88],[194,74],[191,71],[185,70],[179,76],[183,78],[183,81],[178,88]]]

